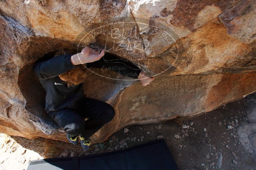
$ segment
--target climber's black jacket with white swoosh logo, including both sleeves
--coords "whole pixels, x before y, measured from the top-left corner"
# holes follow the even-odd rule
[[[74,109],[77,107],[79,99],[85,96],[82,83],[68,88],[67,85],[64,84],[64,81],[58,76],[77,67],[77,65],[73,65],[70,60],[72,55],[73,54],[59,55],[48,60],[39,59],[33,64],[33,70],[46,91],[45,110],[47,113],[61,109]],[[138,77],[140,69],[136,65],[125,60],[114,62],[116,60],[116,57],[105,54],[100,60],[87,63],[86,67],[105,67],[112,69],[116,66],[121,66],[125,69],[112,70],[128,77]]]

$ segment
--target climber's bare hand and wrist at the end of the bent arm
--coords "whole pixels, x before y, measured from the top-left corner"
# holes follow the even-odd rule
[[[104,49],[100,52],[100,50],[86,46],[82,49],[81,53],[77,53],[71,56],[71,62],[73,65],[91,63],[101,59],[105,51],[106,50]]]

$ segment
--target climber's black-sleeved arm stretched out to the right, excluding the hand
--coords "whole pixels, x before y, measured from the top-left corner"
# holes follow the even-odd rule
[[[100,60],[87,63],[87,68],[107,68],[123,76],[137,79],[141,70],[128,60],[119,59],[111,54],[105,54]]]

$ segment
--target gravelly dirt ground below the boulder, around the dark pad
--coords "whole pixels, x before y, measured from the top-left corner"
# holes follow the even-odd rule
[[[198,117],[128,126],[87,152],[80,144],[0,136],[0,168],[8,170],[26,169],[29,160],[109,152],[158,138],[182,170],[256,170],[256,93]]]

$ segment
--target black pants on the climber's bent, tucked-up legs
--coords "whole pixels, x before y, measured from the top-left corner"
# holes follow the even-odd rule
[[[56,114],[55,114],[56,113]],[[79,135],[84,138],[91,137],[104,124],[110,122],[115,116],[114,108],[103,101],[83,97],[74,110],[63,109],[50,112],[50,115],[60,127],[68,134]],[[84,120],[89,118],[88,120]]]

